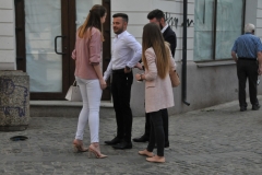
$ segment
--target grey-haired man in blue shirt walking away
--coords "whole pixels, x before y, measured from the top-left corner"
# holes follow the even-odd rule
[[[254,25],[246,24],[245,34],[239,36],[231,49],[231,57],[237,63],[238,100],[240,112],[247,110],[246,83],[249,79],[249,95],[252,110],[258,110],[260,104],[257,97],[258,75],[262,74],[262,44],[254,36]]]

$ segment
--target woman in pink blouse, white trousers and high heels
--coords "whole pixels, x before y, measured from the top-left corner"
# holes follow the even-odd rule
[[[76,151],[87,151],[83,147],[83,135],[88,121],[91,132],[88,152],[94,153],[98,159],[107,156],[100,153],[99,148],[100,97],[102,90],[107,86],[99,65],[104,42],[102,25],[106,21],[106,9],[103,5],[96,4],[90,10],[84,24],[78,28],[75,49],[72,52],[72,58],[75,59],[74,75],[83,98],[73,145]]]

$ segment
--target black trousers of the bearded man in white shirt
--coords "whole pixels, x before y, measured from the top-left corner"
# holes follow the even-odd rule
[[[131,142],[133,116],[130,108],[133,73],[112,72],[111,93],[117,120],[117,137]]]

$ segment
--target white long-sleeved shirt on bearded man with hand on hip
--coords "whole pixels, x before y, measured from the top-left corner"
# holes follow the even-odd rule
[[[116,35],[112,40],[111,60],[104,73],[104,80],[107,80],[112,70],[124,69],[126,66],[133,68],[142,57],[142,46],[135,40],[133,35],[127,31]]]

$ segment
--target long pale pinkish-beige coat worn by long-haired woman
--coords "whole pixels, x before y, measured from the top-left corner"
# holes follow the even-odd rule
[[[175,105],[169,73],[160,79],[156,69],[156,55],[154,49],[145,50],[148,69],[145,69],[145,112],[152,113]],[[176,63],[170,51],[170,69],[176,69]]]

